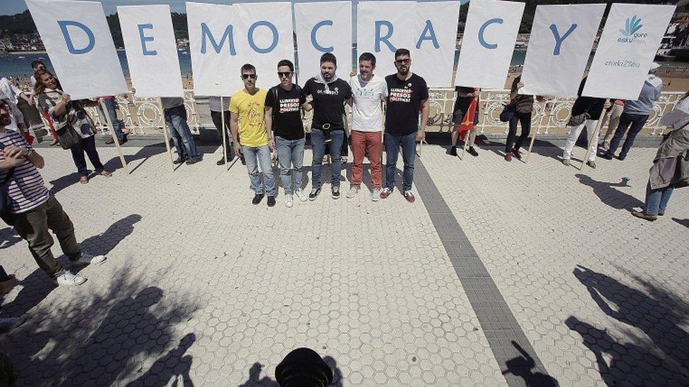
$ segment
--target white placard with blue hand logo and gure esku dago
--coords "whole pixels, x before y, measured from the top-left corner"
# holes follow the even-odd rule
[[[583,94],[638,99],[674,11],[675,6],[613,4]]]

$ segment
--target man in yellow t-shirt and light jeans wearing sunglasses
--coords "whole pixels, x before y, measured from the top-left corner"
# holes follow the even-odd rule
[[[272,176],[270,151],[275,150],[275,142],[270,129],[265,127],[266,91],[256,87],[258,75],[253,65],[241,66],[241,78],[244,89],[234,93],[229,100],[229,129],[234,139],[234,153],[244,154],[251,189],[256,194],[251,202],[258,204],[263,195],[268,195],[268,207],[272,207],[275,206],[275,178]],[[258,173],[258,164],[263,179]]]

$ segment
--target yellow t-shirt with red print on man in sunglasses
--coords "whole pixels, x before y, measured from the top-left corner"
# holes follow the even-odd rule
[[[265,90],[258,90],[251,95],[242,89],[229,100],[229,111],[239,116],[239,143],[244,147],[268,145],[263,116],[265,94]]]

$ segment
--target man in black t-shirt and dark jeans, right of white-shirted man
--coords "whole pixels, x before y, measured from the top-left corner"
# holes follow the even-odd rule
[[[388,100],[385,109],[385,189],[381,199],[390,196],[395,187],[397,154],[402,145],[402,159],[405,162],[404,189],[407,202],[414,202],[412,182],[414,181],[414,158],[417,141],[424,140],[426,123],[429,121],[429,87],[424,78],[409,69],[412,59],[408,49],[395,51],[397,73],[385,77],[388,83]],[[419,111],[421,126],[419,127]]]

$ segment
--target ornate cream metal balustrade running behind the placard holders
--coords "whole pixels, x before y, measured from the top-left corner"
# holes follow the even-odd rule
[[[509,90],[481,90],[479,103],[479,133],[503,133],[508,131],[508,124],[500,121],[499,116],[503,106],[509,100]],[[681,92],[664,92],[659,101],[653,106],[653,112],[642,130],[642,135],[659,135],[665,128],[660,125],[660,118],[671,111],[681,99]],[[205,97],[199,97],[199,101]],[[428,132],[450,132],[453,129],[453,104],[455,91],[451,88],[430,90],[431,112],[429,114]],[[193,90],[184,91],[184,106],[188,116],[189,127],[193,133],[199,128],[215,129],[210,122],[202,122],[198,104],[193,96]],[[157,99],[133,97],[118,97],[118,117],[124,121],[126,128],[136,134],[162,133],[164,118],[157,103]],[[534,104],[532,116],[532,130],[539,134],[564,135],[568,132],[567,122],[574,99],[556,97]],[[107,125],[100,109],[89,108],[95,123],[100,130],[106,132]],[[347,106],[347,115],[350,109]],[[305,128],[311,128],[311,114],[304,118]]]

